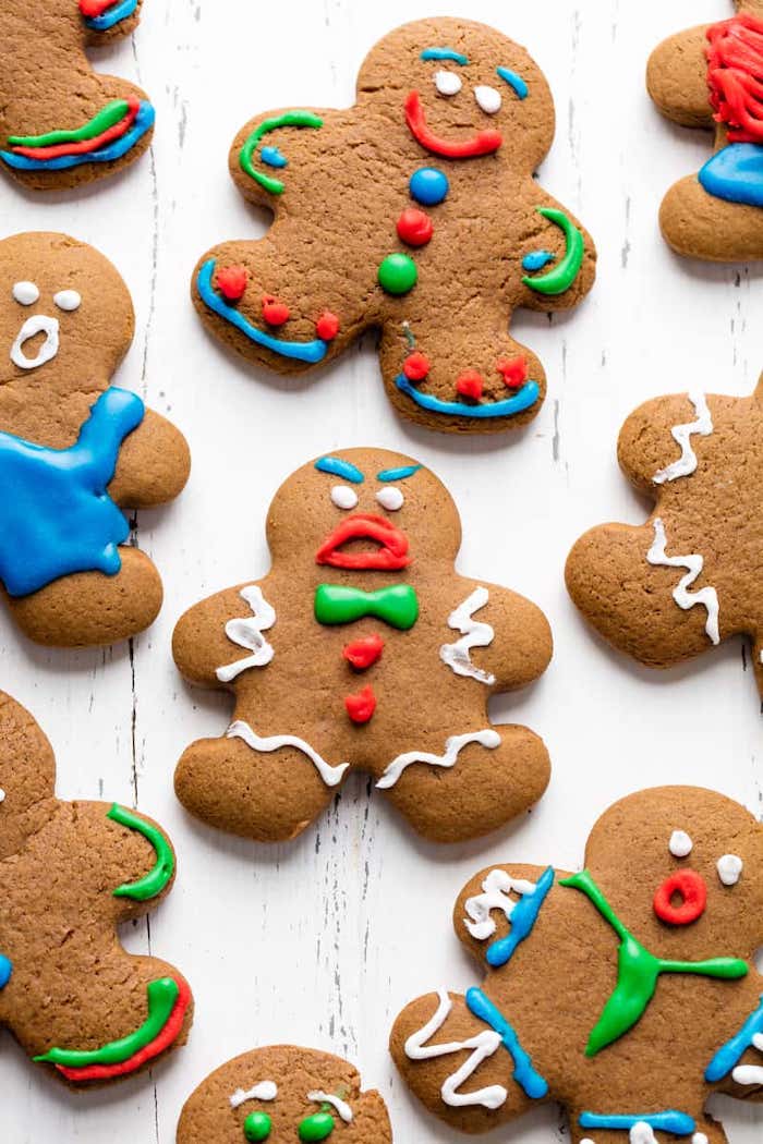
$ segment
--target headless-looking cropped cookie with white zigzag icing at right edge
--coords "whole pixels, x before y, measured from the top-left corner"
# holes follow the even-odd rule
[[[646,402],[620,431],[618,460],[657,507],[645,524],[591,529],[565,573],[586,619],[649,667],[748,635],[761,696],[762,434],[761,382],[750,397],[696,390]]]

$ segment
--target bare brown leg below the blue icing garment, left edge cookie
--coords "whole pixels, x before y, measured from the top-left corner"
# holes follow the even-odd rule
[[[120,555],[117,575],[78,572],[30,596],[7,596],[19,628],[54,648],[105,645],[143,631],[161,607],[161,580],[137,548],[120,548]]]

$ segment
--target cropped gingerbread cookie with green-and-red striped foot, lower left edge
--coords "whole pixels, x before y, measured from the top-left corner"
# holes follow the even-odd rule
[[[151,819],[55,796],[53,750],[0,693],[0,1025],[70,1085],[103,1085],[183,1044],[193,1002],[118,927],[169,892],[172,843]]]

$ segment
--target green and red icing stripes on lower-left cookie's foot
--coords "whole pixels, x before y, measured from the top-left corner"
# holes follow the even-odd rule
[[[140,1028],[100,1049],[54,1048],[34,1057],[73,1082],[110,1080],[135,1072],[169,1048],[183,1026],[191,991],[182,977],[160,977],[146,987],[149,1016]]]

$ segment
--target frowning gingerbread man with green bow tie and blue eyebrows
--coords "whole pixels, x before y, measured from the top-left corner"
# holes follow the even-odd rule
[[[181,802],[281,841],[357,768],[420,834],[451,842],[539,799],[542,741],[493,726],[487,700],[546,669],[549,627],[522,596],[458,575],[460,541],[450,494],[408,456],[342,450],[293,474],[268,513],[268,575],[175,629],[183,675],[236,694],[226,734],[181,758]]]

